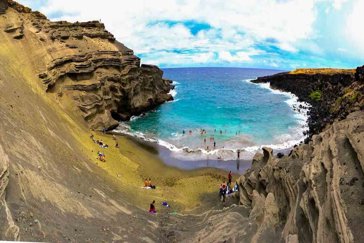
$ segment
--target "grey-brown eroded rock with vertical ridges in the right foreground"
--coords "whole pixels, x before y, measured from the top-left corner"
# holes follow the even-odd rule
[[[282,158],[270,148],[263,151],[237,180],[240,203],[252,208],[251,214],[272,197],[285,242],[363,242],[363,111]]]

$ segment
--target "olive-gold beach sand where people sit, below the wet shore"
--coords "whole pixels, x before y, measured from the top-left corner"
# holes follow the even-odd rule
[[[93,132],[95,140],[102,140],[109,145],[108,149],[102,149],[92,142],[90,134],[87,137],[78,137],[85,147],[84,153],[92,162],[107,171],[110,176],[105,181],[119,185],[120,190],[115,193],[119,193],[131,204],[149,209],[150,202],[155,200],[159,212],[179,213],[204,212],[219,204],[218,190],[222,182],[227,180],[228,171],[212,167],[194,168],[193,163],[198,167],[206,161],[196,163],[168,158],[166,148],[138,138],[115,134],[117,140],[113,140],[112,134]],[[119,148],[115,148],[116,141]],[[98,151],[105,153],[106,162],[99,160]],[[233,164],[232,161],[218,162]],[[181,169],[174,166],[177,163],[189,165]],[[236,161],[234,163],[236,166]],[[251,161],[240,161],[240,166],[249,168]],[[241,174],[233,172],[233,184]],[[149,177],[156,189],[141,188]],[[163,201],[170,204],[171,208],[162,206]]]

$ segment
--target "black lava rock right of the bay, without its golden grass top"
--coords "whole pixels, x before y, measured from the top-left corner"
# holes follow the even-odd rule
[[[364,66],[363,66],[364,67]],[[348,113],[345,111],[338,115],[330,112],[331,107],[344,93],[344,89],[363,77],[363,67],[357,67],[356,72],[341,72],[336,74],[291,74],[281,72],[271,76],[258,77],[253,83],[270,82],[272,89],[290,92],[298,97],[298,101],[311,105],[307,114],[308,137],[304,143],[308,144],[314,134],[318,134],[336,119],[345,119]],[[316,101],[311,98],[313,91],[321,92],[321,99]]]

